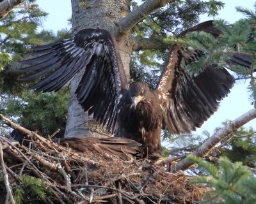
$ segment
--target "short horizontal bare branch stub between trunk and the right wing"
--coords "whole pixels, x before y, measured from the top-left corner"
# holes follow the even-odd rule
[[[140,51],[140,50],[164,50],[170,48],[170,45],[166,45],[161,41],[155,41],[149,38],[134,38],[134,45],[132,51]]]

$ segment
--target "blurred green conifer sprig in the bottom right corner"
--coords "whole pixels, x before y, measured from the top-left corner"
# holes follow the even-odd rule
[[[193,184],[212,187],[200,203],[251,204],[256,200],[256,178],[242,163],[231,163],[227,157],[218,159],[218,168],[202,158],[188,156],[188,159],[204,168],[208,174],[193,177]]]

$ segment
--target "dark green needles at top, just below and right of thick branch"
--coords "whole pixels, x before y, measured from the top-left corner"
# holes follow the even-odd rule
[[[209,17],[214,17],[223,6],[221,1],[214,0],[172,1],[140,22],[136,27],[136,32],[140,31],[143,36],[145,34],[147,36],[177,34],[180,30],[188,29],[197,24],[200,14],[206,13]]]

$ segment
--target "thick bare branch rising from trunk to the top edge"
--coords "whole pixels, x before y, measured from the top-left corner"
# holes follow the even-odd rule
[[[148,0],[141,4],[136,10],[133,10],[118,22],[118,36],[120,37],[129,33],[134,25],[138,24],[138,22],[147,17],[147,15],[165,6],[170,1],[172,0]]]

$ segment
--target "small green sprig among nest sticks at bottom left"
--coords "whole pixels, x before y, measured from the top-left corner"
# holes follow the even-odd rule
[[[15,186],[14,199],[15,203],[21,204],[26,198],[42,198],[51,194],[50,189],[47,188],[42,179],[36,179],[29,175],[20,177],[20,182]]]

